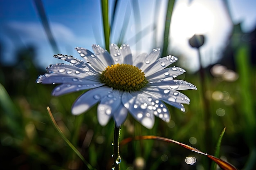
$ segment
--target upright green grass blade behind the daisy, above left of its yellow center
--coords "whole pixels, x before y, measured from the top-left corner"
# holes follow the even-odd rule
[[[101,0],[101,14],[103,20],[105,49],[109,51],[110,25],[108,21],[108,0]]]

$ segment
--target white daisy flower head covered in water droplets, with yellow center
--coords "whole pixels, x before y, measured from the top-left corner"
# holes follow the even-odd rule
[[[111,44],[110,53],[99,45],[92,45],[92,49],[94,53],[75,48],[84,60],[54,55],[71,64],[49,65],[48,72],[36,80],[42,84],[60,84],[52,91],[53,96],[90,89],[74,102],[74,115],[99,103],[97,117],[102,126],[111,117],[117,127],[121,126],[129,112],[143,126],[152,128],[155,116],[170,121],[165,103],[185,111],[183,104],[189,104],[189,97],[177,90],[196,90],[193,84],[174,79],[185,70],[175,66],[166,68],[178,59],[171,55],[159,58],[159,48],[138,56],[132,55],[128,44],[120,48]]]

